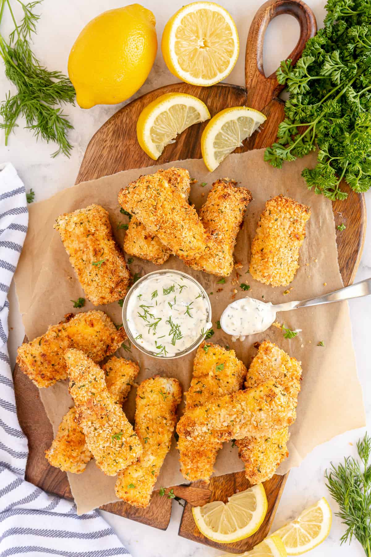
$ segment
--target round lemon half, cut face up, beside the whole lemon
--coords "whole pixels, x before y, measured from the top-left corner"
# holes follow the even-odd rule
[[[233,70],[240,43],[235,22],[214,2],[193,2],[166,23],[161,41],[167,67],[192,85],[214,85]]]

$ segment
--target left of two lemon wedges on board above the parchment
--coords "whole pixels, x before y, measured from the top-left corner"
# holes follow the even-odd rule
[[[199,122],[209,120],[204,102],[185,93],[166,93],[150,102],[137,121],[137,138],[141,148],[157,160],[177,134]]]

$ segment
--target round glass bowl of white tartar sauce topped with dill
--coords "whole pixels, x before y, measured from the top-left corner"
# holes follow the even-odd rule
[[[195,278],[162,269],[141,277],[125,296],[122,323],[131,343],[154,358],[180,358],[212,326],[211,304]]]

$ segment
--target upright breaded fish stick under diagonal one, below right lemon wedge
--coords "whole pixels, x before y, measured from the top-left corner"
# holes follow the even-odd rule
[[[244,220],[245,209],[253,199],[246,188],[217,180],[200,209],[201,222],[209,238],[207,249],[193,268],[226,277],[233,271],[233,251]]]

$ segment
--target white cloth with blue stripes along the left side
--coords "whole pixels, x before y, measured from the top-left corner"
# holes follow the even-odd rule
[[[129,555],[98,511],[76,506],[24,480],[27,438],[19,427],[9,361],[7,294],[28,224],[26,191],[14,167],[0,165],[0,557]]]

